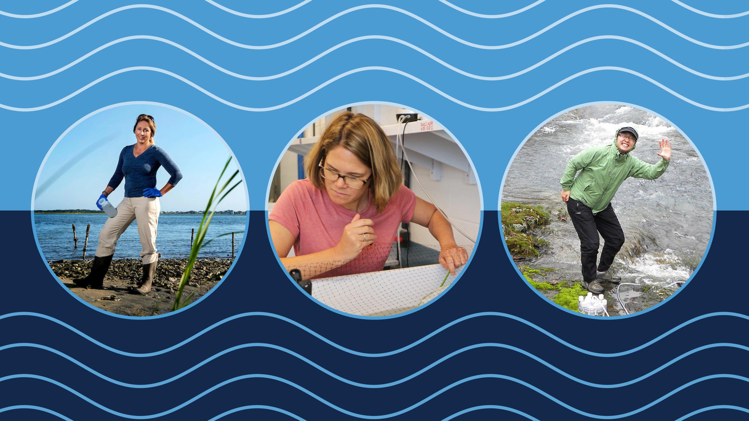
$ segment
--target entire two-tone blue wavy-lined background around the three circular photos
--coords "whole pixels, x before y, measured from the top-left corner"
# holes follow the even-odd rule
[[[453,1],[466,10],[445,0],[132,3],[0,1],[0,420],[211,420],[252,405],[261,408],[222,420],[372,419],[411,406],[389,418],[444,420],[469,411],[455,419],[682,420],[704,408],[689,419],[749,418],[743,408],[749,406],[742,290],[749,216],[745,1]],[[295,5],[277,16],[241,14]],[[44,14],[58,6],[64,7]],[[157,121],[160,106],[169,106],[215,130],[240,166],[252,210],[243,249],[222,284],[163,318],[120,318],[81,303],[49,272],[32,231],[30,210],[46,154],[58,139],[66,141],[62,135],[76,130],[76,122],[124,103],[142,105]],[[482,193],[483,228],[464,275],[443,297],[396,318],[354,318],[315,303],[285,276],[267,239],[262,210],[282,151],[310,122],[357,103],[400,104],[434,118],[470,157]],[[583,318],[539,297],[506,257],[497,224],[503,173],[524,139],[560,112],[589,103],[636,106],[678,128],[699,151],[712,181],[705,188],[715,195],[715,236],[694,279],[666,303],[629,318]],[[112,127],[129,133],[130,124]],[[643,216],[652,211],[643,209]],[[267,314],[235,318],[246,312]],[[713,312],[734,315],[703,317]],[[689,323],[693,318],[700,320]],[[392,352],[446,324],[452,325]],[[243,344],[257,345],[161,386],[118,384],[166,381]],[[718,345],[616,388],[580,384],[530,357],[606,385],[646,376],[711,344]],[[350,382],[386,384],[466,347],[473,348],[380,388],[348,384],[289,354]],[[473,378],[490,374],[505,378]],[[255,377],[172,411],[243,375]],[[723,377],[629,414],[711,375]]]

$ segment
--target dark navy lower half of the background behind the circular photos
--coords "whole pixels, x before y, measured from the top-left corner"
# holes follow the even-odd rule
[[[4,220],[28,220],[28,212],[3,212]],[[627,351],[667,330],[709,312],[744,312],[743,294],[732,294],[741,280],[727,267],[727,259],[745,254],[737,242],[737,228],[745,226],[746,212],[718,212],[715,237],[700,272],[689,284],[658,308],[632,318],[583,318],[561,311],[527,287],[504,249],[491,238],[501,238],[497,213],[484,215],[482,241],[464,275],[432,305],[398,318],[369,320],[331,312],[306,295],[282,273],[264,241],[263,212],[249,216],[248,242],[229,276],[198,305],[166,318],[127,320],[97,312],[82,305],[49,273],[36,252],[31,223],[8,227],[7,238],[15,239],[16,259],[5,269],[5,293],[0,297],[2,313],[43,312],[71,324],[112,348],[148,353],[169,348],[199,330],[241,312],[270,312],[309,327],[321,336],[354,351],[378,353],[409,345],[455,319],[477,312],[518,315],[572,345],[592,352]],[[261,239],[261,240],[259,240]],[[501,258],[497,258],[497,256]],[[733,256],[733,257],[732,257]],[[265,262],[265,263],[264,263]],[[337,375],[366,384],[395,381],[422,369],[446,354],[480,343],[512,345],[535,354],[548,363],[585,381],[615,384],[631,381],[694,348],[718,342],[749,345],[746,321],[719,315],[676,330],[641,351],[621,357],[593,357],[571,350],[519,321],[482,315],[461,321],[407,351],[387,357],[351,355],[327,345],[286,321],[250,315],[228,321],[192,342],[154,357],[125,357],[106,351],[52,321],[29,315],[0,320],[2,345],[28,342],[46,345],[118,381],[147,384],[177,375],[227,348],[246,343],[267,343],[294,351]],[[530,357],[503,348],[476,348],[446,360],[403,384],[368,389],[345,384],[272,348],[231,351],[172,383],[148,389],[111,384],[85,372],[49,351],[19,347],[0,351],[0,377],[16,374],[40,375],[60,381],[95,402],[130,415],[157,414],[181,405],[216,384],[241,375],[278,376],[310,390],[322,399],[358,414],[377,416],[401,411],[456,381],[474,375],[497,374],[521,379],[574,408],[597,415],[616,415],[637,410],[671,390],[697,378],[733,374],[749,376],[743,363],[746,351],[712,348],[699,351],[672,366],[637,382],[615,389],[577,384],[542,366]],[[17,378],[0,383],[0,408],[38,405],[73,420],[115,420],[67,390],[39,379]],[[717,378],[685,388],[652,408],[634,414],[632,420],[673,420],[711,405],[743,406],[749,383]],[[267,378],[234,381],[198,399],[187,408],[167,414],[163,420],[208,420],[244,405],[282,408],[305,420],[348,420],[306,393]],[[466,408],[503,405],[539,420],[585,420],[521,384],[500,378],[481,378],[434,397],[397,420],[439,420]],[[287,420],[288,415],[267,409],[240,411],[225,420]],[[32,410],[8,411],[3,420],[57,420]],[[502,418],[524,420],[498,409],[482,409],[459,420]],[[716,410],[691,420],[739,420],[746,414]]]

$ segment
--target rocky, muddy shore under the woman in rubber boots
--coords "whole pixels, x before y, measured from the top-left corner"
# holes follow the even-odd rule
[[[131,292],[142,275],[139,258],[112,260],[112,266],[104,277],[104,289],[80,288],[73,284],[73,279],[88,274],[91,263],[92,260],[49,261],[49,267],[70,291],[92,306],[120,315],[148,316],[172,310],[187,258],[160,259],[154,276],[154,288],[146,295]],[[198,258],[183,297],[194,293],[194,302],[207,294],[222,279],[232,263],[232,258]]]

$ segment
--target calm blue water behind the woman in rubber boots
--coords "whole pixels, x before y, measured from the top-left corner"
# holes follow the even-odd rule
[[[161,257],[188,257],[190,250],[189,239],[192,228],[198,231],[202,217],[202,215],[159,216],[156,247],[161,253]],[[34,225],[44,258],[46,260],[81,258],[86,224],[91,224],[91,232],[88,234],[88,249],[86,249],[86,258],[91,258],[96,251],[99,241],[99,231],[103,227],[104,222],[106,222],[106,219],[107,216],[105,214],[34,214]],[[241,231],[234,234],[234,252],[239,252],[239,247],[244,237],[246,220],[246,215],[215,215],[210,222],[205,239],[210,240],[225,232]],[[78,236],[77,249],[73,249],[72,224],[76,224],[76,235]],[[140,238],[138,237],[137,221],[133,221],[117,242],[115,258],[139,258],[140,250],[141,245]],[[216,240],[213,240],[207,246],[203,246],[200,250],[200,256],[231,256],[231,235],[216,238]]]

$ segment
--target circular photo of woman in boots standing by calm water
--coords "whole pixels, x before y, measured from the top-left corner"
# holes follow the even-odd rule
[[[218,133],[157,103],[115,104],[73,124],[47,153],[31,205],[50,272],[73,297],[125,318],[210,294],[243,246],[249,209]]]

